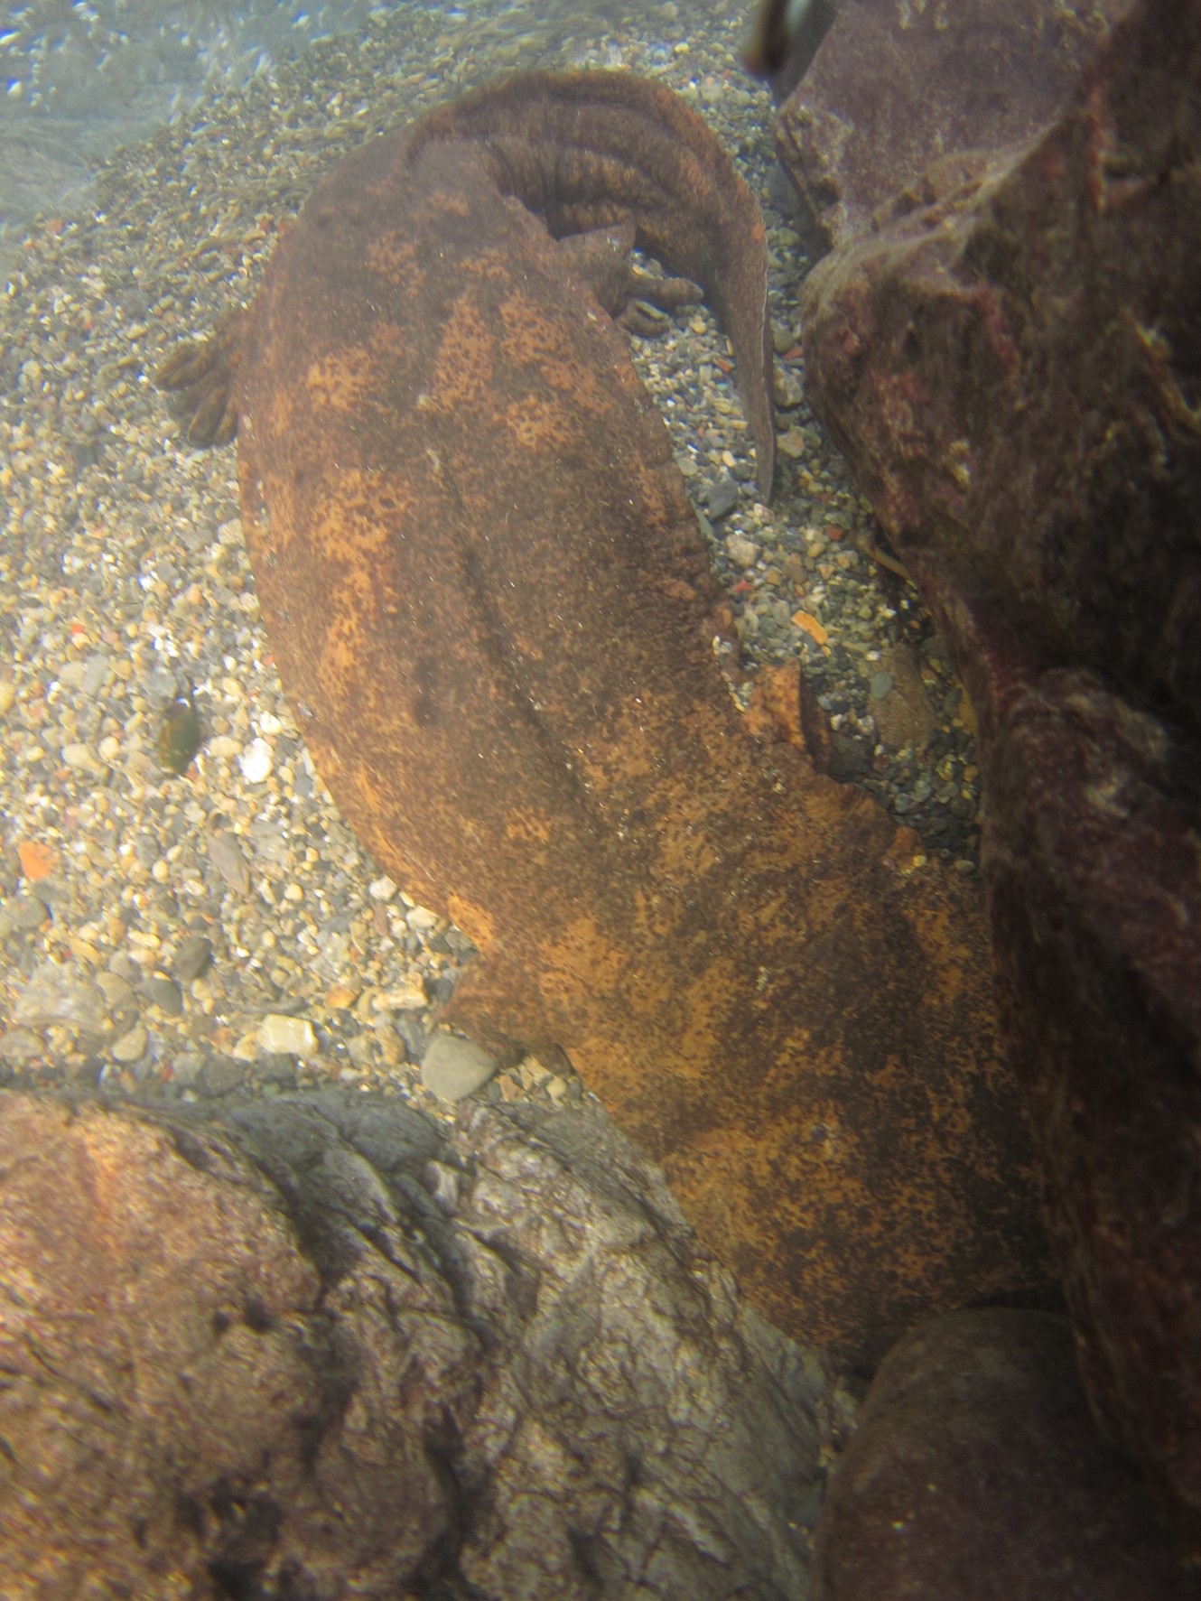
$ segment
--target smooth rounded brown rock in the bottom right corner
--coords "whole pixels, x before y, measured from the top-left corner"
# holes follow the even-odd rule
[[[1097,1433],[1066,1318],[951,1313],[889,1353],[826,1492],[812,1601],[1198,1593]]]

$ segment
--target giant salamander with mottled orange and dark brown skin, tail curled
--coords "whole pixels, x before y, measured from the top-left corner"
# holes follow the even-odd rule
[[[716,274],[764,384],[757,208],[668,91],[528,77],[343,162],[237,336],[245,536],[314,760],[479,945],[448,1020],[564,1047],[783,1327],[862,1356],[1039,1297],[975,900],[748,728],[668,434],[506,195],[522,163],[556,232],[629,219]]]

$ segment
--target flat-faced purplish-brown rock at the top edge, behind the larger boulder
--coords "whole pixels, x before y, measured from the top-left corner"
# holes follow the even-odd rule
[[[940,157],[1047,128],[1107,24],[1131,0],[844,3],[780,107],[777,152],[813,255],[871,227],[876,207]]]

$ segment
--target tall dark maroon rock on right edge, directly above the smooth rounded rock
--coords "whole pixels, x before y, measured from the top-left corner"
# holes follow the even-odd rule
[[[985,874],[1081,1364],[1201,1551],[1201,860],[1190,754],[1047,671],[990,741]]]

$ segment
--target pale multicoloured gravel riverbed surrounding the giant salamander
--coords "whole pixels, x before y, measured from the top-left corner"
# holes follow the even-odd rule
[[[183,448],[151,375],[253,295],[277,229],[341,154],[511,67],[658,77],[764,202],[788,402],[770,508],[709,312],[636,341],[636,363],[738,613],[746,682],[799,656],[841,773],[974,871],[959,685],[913,591],[870,554],[871,514],[799,399],[804,261],[740,42],[741,24],[674,0],[391,10],[118,150],[94,213],[30,226],[0,293],[0,1076],[184,1097],[333,1079],[445,1113],[420,1057],[471,946],[338,817],[259,624],[234,451]],[[205,738],[176,776],[160,725],[187,695]],[[564,1061],[527,1060],[485,1093],[581,1089]]]

